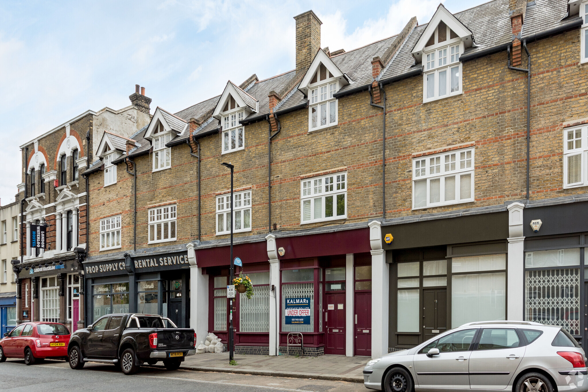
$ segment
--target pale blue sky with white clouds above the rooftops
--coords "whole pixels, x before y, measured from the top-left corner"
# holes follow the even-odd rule
[[[295,68],[293,16],[312,9],[321,46],[346,51],[487,0],[0,0],[0,205],[22,181],[19,146],[105,106],[130,105],[135,84],[177,112],[240,84]]]

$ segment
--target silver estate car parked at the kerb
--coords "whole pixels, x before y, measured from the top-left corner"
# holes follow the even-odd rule
[[[562,327],[467,323],[368,362],[364,385],[386,392],[588,391],[584,350]]]

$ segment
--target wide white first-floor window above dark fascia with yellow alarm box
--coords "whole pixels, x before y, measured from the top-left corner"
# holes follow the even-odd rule
[[[463,159],[462,159],[463,154]],[[425,166],[423,167],[423,160]],[[455,163],[455,165],[453,165]],[[463,163],[463,165],[462,165]],[[474,202],[475,148],[447,151],[435,155],[420,156],[412,160],[412,209],[449,206]],[[460,198],[461,177],[470,175],[470,197]],[[455,176],[453,200],[445,200],[445,179]],[[431,181],[439,180],[439,202],[431,202]],[[415,191],[418,181],[426,180],[426,205],[416,206]]]

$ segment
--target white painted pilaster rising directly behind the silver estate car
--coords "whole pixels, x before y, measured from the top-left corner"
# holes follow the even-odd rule
[[[524,301],[524,236],[523,203],[511,203],[509,210],[508,279],[506,287],[506,319],[523,320]]]

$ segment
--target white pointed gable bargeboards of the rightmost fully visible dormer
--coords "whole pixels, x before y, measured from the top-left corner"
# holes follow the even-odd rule
[[[474,44],[473,33],[462,22],[459,21],[451,12],[447,11],[443,4],[439,4],[435,15],[427,24],[425,31],[416,42],[412,55],[417,62],[422,60],[423,52],[429,47],[437,44],[451,41],[459,38],[463,41],[465,48],[470,48]]]

